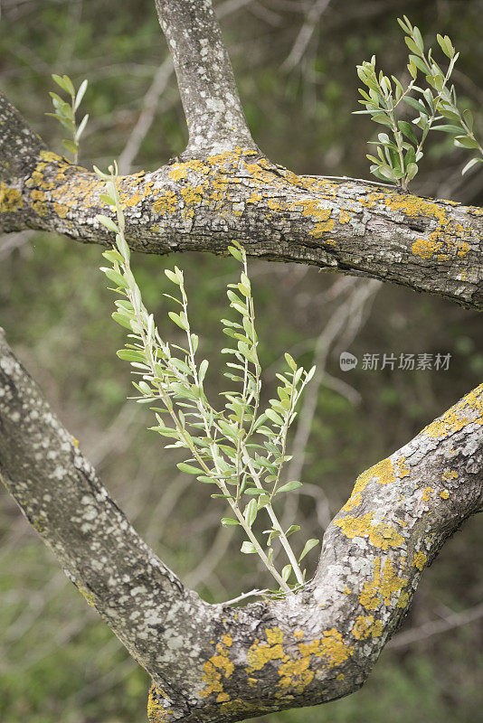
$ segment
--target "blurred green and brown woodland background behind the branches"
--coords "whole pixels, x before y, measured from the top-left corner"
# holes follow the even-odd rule
[[[299,173],[368,177],[365,140],[374,128],[366,117],[351,115],[359,85],[355,65],[376,53],[386,72],[404,75],[406,50],[395,22],[403,13],[428,42],[437,32],[450,34],[460,52],[459,98],[475,112],[480,134],[483,130],[480,0],[216,5],[253,136],[279,164]],[[105,166],[124,150],[125,168],[152,170],[183,150],[185,121],[152,0],[3,0],[1,6],[2,89],[53,150],[62,153],[59,128],[44,115],[51,110],[52,72],[68,73],[77,85],[90,81],[83,103],[90,123],[80,163]],[[156,110],[150,127],[149,104]],[[145,129],[139,145],[132,134],[140,119]],[[459,175],[467,160],[450,140],[433,143],[412,190],[483,205],[480,166],[464,179]],[[0,324],[137,530],[208,600],[263,587],[268,580],[261,570],[255,575],[252,559],[239,554],[232,528],[220,530],[222,505],[209,500],[205,485],[178,473],[175,454],[146,431],[147,410],[126,402],[128,365],[115,354],[123,333],[109,319],[112,298],[98,271],[100,249],[26,232],[0,239],[0,259]],[[219,319],[235,262],[185,254],[137,255],[134,263],[147,303],[172,339],[176,332],[164,321],[163,269],[175,263],[185,269],[193,325],[211,360],[207,386],[215,396],[224,388]],[[318,362],[320,374],[300,411],[292,468],[307,494],[293,496],[289,505],[304,537],[317,537],[357,474],[478,384],[481,322],[475,312],[436,297],[314,268],[253,261],[251,275],[267,398],[285,350],[306,367],[314,358]],[[450,369],[363,371],[359,363],[357,370],[342,372],[341,351],[359,359],[366,352],[449,352]],[[85,605],[3,492],[0,540],[0,718],[145,720],[147,675]],[[309,566],[315,558],[311,553]],[[423,577],[403,628],[415,631],[411,644],[388,647],[353,696],[262,720],[479,720],[481,617],[455,627],[451,615],[461,613],[459,622],[464,621],[481,600],[482,561],[473,519]],[[447,632],[424,636],[428,624],[445,620]]]

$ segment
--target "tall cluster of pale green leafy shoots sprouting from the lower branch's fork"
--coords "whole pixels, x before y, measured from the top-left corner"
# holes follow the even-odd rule
[[[237,242],[228,250],[242,264],[240,281],[229,284],[227,296],[237,321],[222,319],[223,333],[230,345],[222,349],[229,361],[224,376],[237,385],[235,390],[223,391],[224,408],[212,406],[204,390],[208,361],[198,363],[196,351],[199,338],[192,332],[188,317],[188,303],[183,272],[165,270],[166,277],[175,286],[173,296],[165,296],[175,304],[176,311],[168,312],[171,321],[185,332],[185,346],[169,344],[161,338],[154,316],[147,312],[139,286],[130,267],[130,251],[125,239],[125,221],[121,210],[116,179],[117,165],[109,166],[109,175],[94,166],[96,174],[106,181],[106,194],[102,201],[116,211],[117,222],[108,216],[97,219],[116,235],[116,247],[103,253],[111,264],[101,271],[114,284],[112,289],[123,298],[115,302],[117,311],[112,318],[128,329],[129,343],[118,351],[118,357],[130,362],[138,380],[133,382],[138,392],[137,401],[161,404],[152,407],[156,414],[156,427],[150,427],[161,437],[170,440],[166,448],[184,448],[190,456],[178,463],[181,472],[194,474],[204,484],[214,484],[228,502],[234,518],[223,517],[223,526],[241,526],[248,540],[242,543],[244,554],[257,553],[265,567],[279,583],[280,590],[288,592],[305,582],[305,570],[298,563],[318,540],[308,540],[297,559],[288,541],[288,535],[300,528],[290,525],[284,531],[273,509],[276,496],[298,489],[301,483],[281,483],[283,465],[291,457],[287,454],[289,427],[296,418],[295,408],[315,367],[304,371],[285,354],[287,370],[277,373],[279,387],[277,399],[260,413],[261,367],[257,352],[258,336],[255,330],[255,312],[251,296],[244,249]],[[264,544],[252,530],[259,512],[270,519]],[[279,540],[289,558],[289,564],[279,573],[274,565],[273,540]],[[265,549],[267,551],[265,551]],[[291,577],[296,579],[290,582]],[[278,591],[273,591],[279,594]]]

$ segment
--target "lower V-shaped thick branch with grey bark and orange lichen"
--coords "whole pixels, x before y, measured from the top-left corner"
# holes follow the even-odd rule
[[[152,675],[152,723],[235,721],[360,687],[421,571],[483,509],[482,412],[483,386],[361,474],[297,596],[209,606],[139,539],[0,339],[2,479]]]

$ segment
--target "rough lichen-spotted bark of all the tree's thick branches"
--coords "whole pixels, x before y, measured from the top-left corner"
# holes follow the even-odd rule
[[[118,180],[132,249],[298,261],[483,305],[483,210],[366,181],[298,176],[254,145],[209,0],[156,0],[190,131],[180,160]],[[0,95],[0,230],[110,245],[104,184],[50,153]],[[361,474],[297,596],[207,605],[138,537],[0,338],[0,474],[27,519],[152,676],[148,717],[234,721],[360,687],[423,569],[482,510],[483,388]]]

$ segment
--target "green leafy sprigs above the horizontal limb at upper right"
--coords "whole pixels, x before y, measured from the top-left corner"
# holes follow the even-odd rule
[[[367,155],[372,161],[371,173],[384,181],[398,183],[406,190],[408,183],[419,171],[422,147],[430,130],[448,133],[453,136],[455,146],[476,150],[482,156],[472,158],[463,168],[462,174],[473,165],[483,162],[483,148],[473,133],[471,111],[459,110],[454,86],[449,86],[455,62],[459,58],[449,36],[436,36],[441,51],[450,59],[448,69],[443,72],[433,58],[432,48],[425,52],[419,28],[412,26],[406,15],[403,20],[398,18],[398,23],[404,33],[407,33],[404,41],[412,53],[407,66],[412,80],[404,88],[395,76],[392,75],[390,79],[384,75],[383,70],[377,73],[373,55],[371,61],[357,66],[357,75],[367,90],[359,89],[363,97],[359,103],[365,110],[357,110],[355,113],[368,114],[374,123],[387,128],[386,133],[378,134],[377,141],[369,141],[377,146],[376,156]],[[424,76],[424,88],[416,85],[418,73]],[[414,94],[418,97],[415,98]],[[401,101],[417,112],[418,115],[413,118],[412,123],[398,118],[397,108]],[[449,122],[445,123],[445,119]]]

